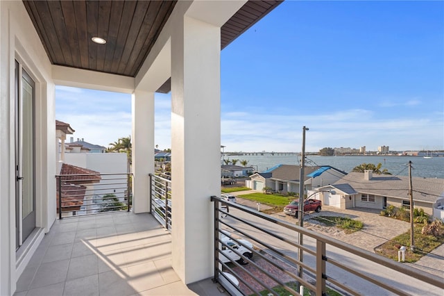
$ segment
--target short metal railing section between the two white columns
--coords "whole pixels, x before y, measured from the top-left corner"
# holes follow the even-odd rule
[[[171,180],[149,174],[151,215],[171,231]]]

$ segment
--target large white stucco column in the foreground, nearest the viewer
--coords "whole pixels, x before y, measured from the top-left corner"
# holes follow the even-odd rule
[[[185,283],[212,277],[211,195],[221,193],[219,26],[184,17],[171,38],[173,268]]]

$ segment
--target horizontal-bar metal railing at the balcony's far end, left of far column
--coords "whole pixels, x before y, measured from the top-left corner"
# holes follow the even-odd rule
[[[130,211],[132,177],[130,173],[56,175],[59,219]]]

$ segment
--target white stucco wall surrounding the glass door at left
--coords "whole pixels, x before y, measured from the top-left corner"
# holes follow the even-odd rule
[[[51,202],[56,200],[55,85],[51,64],[24,4],[0,1],[0,295],[12,295],[23,266],[35,250],[31,246],[16,269],[15,59],[35,81],[36,226],[44,233],[56,219],[56,203]]]

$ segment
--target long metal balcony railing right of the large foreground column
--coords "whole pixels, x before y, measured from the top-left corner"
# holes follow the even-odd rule
[[[232,294],[300,295],[301,286],[310,295],[329,295],[330,288],[343,295],[441,295],[444,289],[443,279],[433,274],[220,197],[211,201],[214,281]],[[228,232],[238,237],[227,239]],[[297,252],[304,255],[300,261]]]

